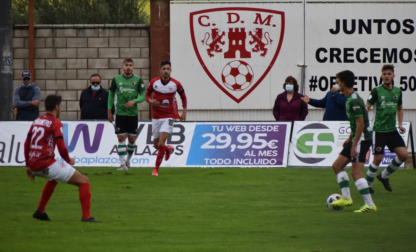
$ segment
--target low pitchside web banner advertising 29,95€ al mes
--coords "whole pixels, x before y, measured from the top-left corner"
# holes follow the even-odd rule
[[[0,166],[24,166],[23,145],[31,122],[0,122]],[[119,166],[117,137],[107,121],[62,121],[74,166]],[[131,167],[156,161],[151,122],[139,122]],[[167,144],[175,151],[163,167],[286,167],[291,123],[177,122]],[[55,150],[55,156],[61,159]]]

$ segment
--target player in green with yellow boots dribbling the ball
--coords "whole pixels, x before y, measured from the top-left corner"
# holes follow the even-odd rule
[[[352,205],[351,193],[349,191],[349,178],[344,167],[352,162],[351,175],[355,186],[364,199],[364,205],[354,212],[376,212],[377,207],[371,198],[369,186],[362,175],[367,152],[372,143],[371,129],[368,121],[368,112],[364,100],[354,91],[354,73],[345,70],[337,74],[339,88],[347,97],[345,108],[351,127],[351,134],[342,145],[343,149],[337,160],[332,164],[337,175],[337,182],[341,188],[342,198],[332,202],[332,207],[343,207]]]

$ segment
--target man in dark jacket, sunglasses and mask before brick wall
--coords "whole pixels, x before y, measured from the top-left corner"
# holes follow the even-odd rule
[[[102,88],[101,77],[98,74],[91,75],[89,83],[91,85],[82,90],[79,97],[81,120],[107,120],[109,92]],[[114,105],[111,113],[114,115]]]

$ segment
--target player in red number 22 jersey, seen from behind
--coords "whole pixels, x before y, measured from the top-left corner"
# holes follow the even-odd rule
[[[82,222],[99,222],[89,213],[91,191],[89,180],[79,171],[72,168],[75,161],[69,158],[62,135],[62,123],[57,118],[61,112],[61,96],[48,95],[45,99],[46,114],[33,121],[25,141],[26,173],[29,180],[35,182],[35,176],[46,178],[48,181],[43,188],[37,210],[33,217],[38,220],[50,220],[45,212],[46,204],[59,182],[76,185],[79,188],[79,201],[82,209]],[[55,159],[55,146],[61,157],[69,163]]]

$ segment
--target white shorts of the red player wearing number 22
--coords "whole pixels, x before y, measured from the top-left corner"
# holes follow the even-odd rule
[[[75,169],[69,164],[57,160],[45,170],[32,171],[32,173],[36,176],[47,178],[48,180],[67,183],[72,175],[74,175]]]

